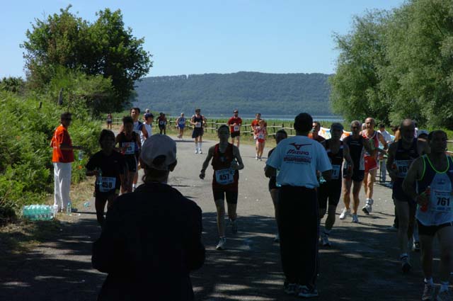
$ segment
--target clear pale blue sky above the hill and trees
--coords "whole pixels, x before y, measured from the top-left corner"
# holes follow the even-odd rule
[[[391,9],[401,0],[4,1],[0,11],[0,77],[24,76],[25,31],[35,18],[71,11],[88,20],[106,7],[145,38],[149,76],[239,71],[335,72],[333,33],[348,33],[352,16]]]

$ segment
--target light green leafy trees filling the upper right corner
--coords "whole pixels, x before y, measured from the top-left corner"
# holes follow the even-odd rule
[[[453,128],[450,0],[411,0],[393,11],[369,11],[335,40],[340,56],[330,80],[334,112],[347,119],[413,118]]]

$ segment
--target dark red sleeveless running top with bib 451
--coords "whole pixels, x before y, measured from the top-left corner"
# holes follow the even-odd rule
[[[215,144],[211,163],[212,169],[214,169],[214,176],[212,176],[213,189],[238,190],[239,171],[231,169],[233,160],[233,144],[229,143],[224,153],[220,152],[219,144]]]

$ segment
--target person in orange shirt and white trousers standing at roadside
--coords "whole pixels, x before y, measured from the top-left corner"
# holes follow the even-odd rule
[[[60,125],[55,129],[50,147],[53,148],[52,162],[54,164],[54,205],[62,212],[69,202],[71,189],[71,162],[74,161],[74,149],[82,147],[72,145],[68,127],[71,124],[71,113],[62,113]]]

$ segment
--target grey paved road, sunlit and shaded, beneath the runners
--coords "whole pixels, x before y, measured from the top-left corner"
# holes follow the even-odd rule
[[[254,147],[241,146],[246,168],[240,173],[239,233],[227,234],[228,249],[216,251],[212,169],[204,181],[198,178],[213,142],[204,143],[205,154],[195,154],[191,141],[177,144],[178,166],[169,183],[203,211],[207,259],[193,273],[197,300],[297,300],[282,293],[279,246],[273,243],[273,205],[263,175],[265,162],[254,159]],[[393,219],[391,191],[375,186],[374,200],[373,214],[360,215],[360,224],[337,220],[331,234],[334,245],[321,249],[320,297],[315,300],[420,300],[418,254],[413,254],[412,273],[403,276],[396,234],[387,230]],[[338,214],[341,208],[339,205]],[[105,274],[91,268],[91,243],[100,229],[93,205],[79,209],[69,222],[62,223],[55,237],[0,263],[0,300],[96,300]]]

